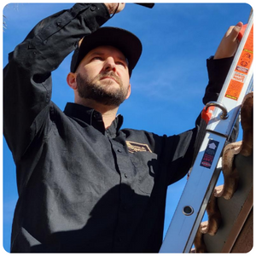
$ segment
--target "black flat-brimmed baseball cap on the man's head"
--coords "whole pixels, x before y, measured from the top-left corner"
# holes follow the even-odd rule
[[[85,36],[80,46],[75,49],[71,61],[70,71],[75,73],[79,67],[79,63],[84,59],[91,49],[102,45],[110,45],[119,49],[128,61],[129,74],[131,76],[132,69],[139,60],[143,46],[139,38],[133,33],[125,29],[104,26],[96,30],[96,32]]]

